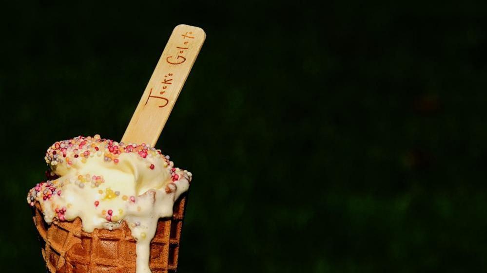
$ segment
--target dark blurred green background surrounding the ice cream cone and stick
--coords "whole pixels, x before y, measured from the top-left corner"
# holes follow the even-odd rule
[[[180,272],[485,272],[486,6],[1,8],[1,268],[42,272],[49,145],[119,139],[173,27],[207,40],[158,147],[194,174]]]

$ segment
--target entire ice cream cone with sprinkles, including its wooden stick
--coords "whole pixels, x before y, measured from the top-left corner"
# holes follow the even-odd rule
[[[154,146],[205,37],[175,27],[120,142],[97,134],[47,149],[48,180],[26,201],[50,273],[175,272],[192,174]]]

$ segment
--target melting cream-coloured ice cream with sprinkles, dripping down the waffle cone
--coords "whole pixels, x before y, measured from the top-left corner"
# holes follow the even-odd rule
[[[149,246],[159,218],[171,217],[192,174],[145,144],[76,137],[47,150],[48,180],[27,196],[51,223],[79,217],[82,230],[117,229],[125,221],[136,239],[136,273],[150,273]]]

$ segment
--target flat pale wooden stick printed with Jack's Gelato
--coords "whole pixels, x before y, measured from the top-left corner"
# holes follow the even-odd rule
[[[198,27],[174,28],[122,142],[156,145],[205,37],[205,32]]]

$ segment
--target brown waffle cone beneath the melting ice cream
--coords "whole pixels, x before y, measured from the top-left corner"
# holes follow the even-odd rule
[[[152,273],[174,273],[186,196],[174,204],[173,217],[160,218],[151,241],[149,267]],[[52,224],[44,221],[39,203],[34,207],[42,256],[50,273],[135,273],[136,240],[125,221],[115,230],[81,230],[81,219]]]

